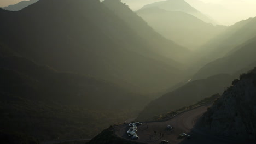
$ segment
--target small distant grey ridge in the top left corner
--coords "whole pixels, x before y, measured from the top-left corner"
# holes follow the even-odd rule
[[[21,9],[27,7],[28,5],[36,3],[37,1],[38,0],[21,1],[21,2],[19,2],[17,4],[8,5],[7,7],[3,7],[3,9],[10,10],[10,11],[18,11],[18,10],[21,10]]]

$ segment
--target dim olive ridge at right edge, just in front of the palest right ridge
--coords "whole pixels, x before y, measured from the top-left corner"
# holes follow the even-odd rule
[[[255,45],[256,37],[235,47],[236,51],[230,52],[229,55],[206,64],[193,76],[193,79],[201,79],[219,73],[234,74],[241,69],[252,69],[255,67],[253,64],[256,63]]]

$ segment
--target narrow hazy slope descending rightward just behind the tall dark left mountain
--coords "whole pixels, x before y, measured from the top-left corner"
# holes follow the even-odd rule
[[[141,40],[146,41],[146,43],[152,46],[151,48],[154,48],[150,51],[166,58],[176,59],[179,62],[184,62],[184,58],[189,55],[190,51],[188,49],[156,33],[141,17],[119,0],[105,0],[102,3],[120,19],[124,20],[142,38]]]

